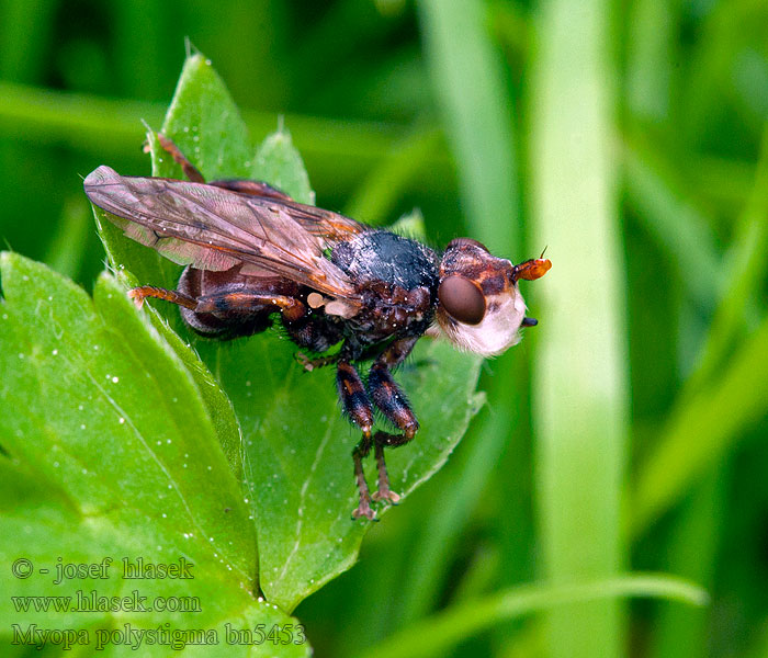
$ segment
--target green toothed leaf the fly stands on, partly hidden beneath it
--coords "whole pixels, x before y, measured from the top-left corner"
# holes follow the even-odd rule
[[[241,151],[248,143],[241,121],[224,84],[201,56],[184,66],[162,131],[206,180],[247,173],[270,177],[267,182],[300,201],[314,198],[285,129],[267,137],[246,172],[250,161]],[[150,144],[154,173],[180,177],[178,166],[153,138]],[[102,237],[113,266],[133,271],[133,262],[122,260],[133,254],[124,246],[127,239],[120,231]],[[150,253],[143,254],[139,263],[149,272],[146,263],[159,257],[145,251]],[[165,282],[161,266],[153,268]],[[156,308],[179,326],[176,308],[162,303]],[[162,326],[157,318],[156,322]],[[247,497],[257,525],[260,586],[269,601],[293,610],[354,563],[369,526],[351,520],[357,506],[351,451],[359,432],[341,418],[332,368],[303,372],[294,359],[295,345],[278,331],[227,343],[196,338],[183,327],[179,331],[215,373],[235,408],[245,441]],[[479,359],[447,344],[422,342],[398,375],[421,430],[410,445],[387,456],[393,485],[406,496],[445,462],[483,400],[475,393]],[[373,484],[373,464],[368,467]]]

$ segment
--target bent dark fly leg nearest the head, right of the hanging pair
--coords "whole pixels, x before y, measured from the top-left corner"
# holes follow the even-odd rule
[[[399,500],[400,497],[389,488],[384,447],[396,447],[408,443],[419,429],[419,423],[405,394],[389,372],[391,367],[402,363],[410,353],[416,340],[416,338],[404,338],[392,343],[373,363],[368,377],[368,387],[374,404],[387,420],[403,430],[402,434],[376,432],[373,438],[379,470],[379,490],[373,495],[374,500],[388,500],[393,503]]]

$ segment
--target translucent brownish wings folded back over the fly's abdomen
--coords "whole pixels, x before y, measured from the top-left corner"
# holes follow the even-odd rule
[[[324,249],[363,230],[329,211],[160,178],[134,178],[99,167],[83,183],[91,202],[111,214],[126,236],[182,265],[279,274],[357,306],[349,277]]]

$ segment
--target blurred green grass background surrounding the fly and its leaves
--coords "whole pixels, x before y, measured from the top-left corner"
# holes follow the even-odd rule
[[[553,261],[449,465],[296,610],[316,654],[664,571],[710,604],[478,604],[437,655],[768,656],[765,0],[3,0],[3,248],[91,286],[80,177],[149,172],[185,37],[255,141],[284,116],[318,205]]]

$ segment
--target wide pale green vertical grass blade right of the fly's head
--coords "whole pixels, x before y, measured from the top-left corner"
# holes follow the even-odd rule
[[[535,231],[554,263],[541,285],[551,310],[534,371],[540,526],[554,583],[610,578],[624,561],[628,358],[609,14],[599,0],[541,5],[529,103]],[[622,653],[617,601],[564,605],[546,622],[552,656]]]

